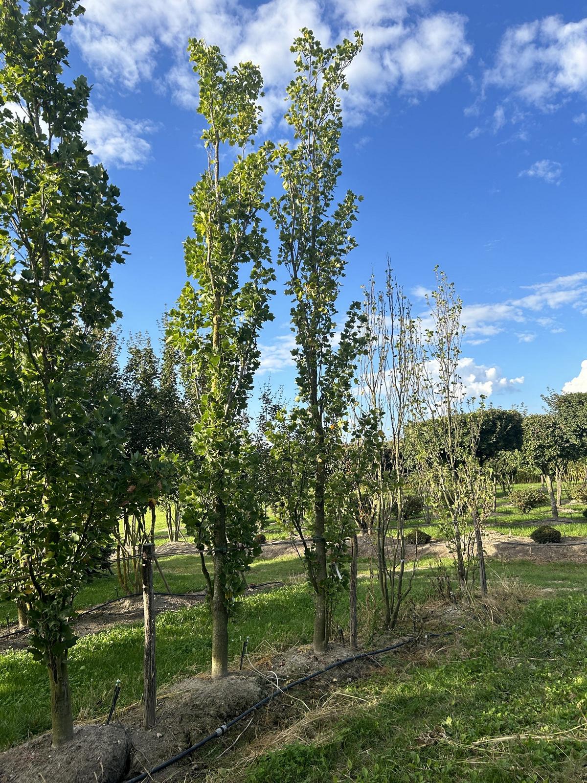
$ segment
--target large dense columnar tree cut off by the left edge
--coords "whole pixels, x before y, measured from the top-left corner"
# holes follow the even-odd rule
[[[96,330],[128,229],[81,136],[89,88],[62,81],[75,0],[0,5],[0,582],[49,669],[53,744],[73,735],[72,602],[116,519],[120,406],[94,399]]]

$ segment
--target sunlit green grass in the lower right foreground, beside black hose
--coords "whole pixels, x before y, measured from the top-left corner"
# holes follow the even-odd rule
[[[357,706],[334,725],[330,723],[322,740],[319,737],[308,745],[297,742],[269,753],[241,779],[245,783],[585,779],[585,596],[534,601],[505,626],[465,630],[459,645],[448,659],[430,659],[428,665],[407,671],[390,658],[387,672],[344,688]],[[581,731],[569,732],[577,726]],[[499,737],[506,739],[485,742]]]

